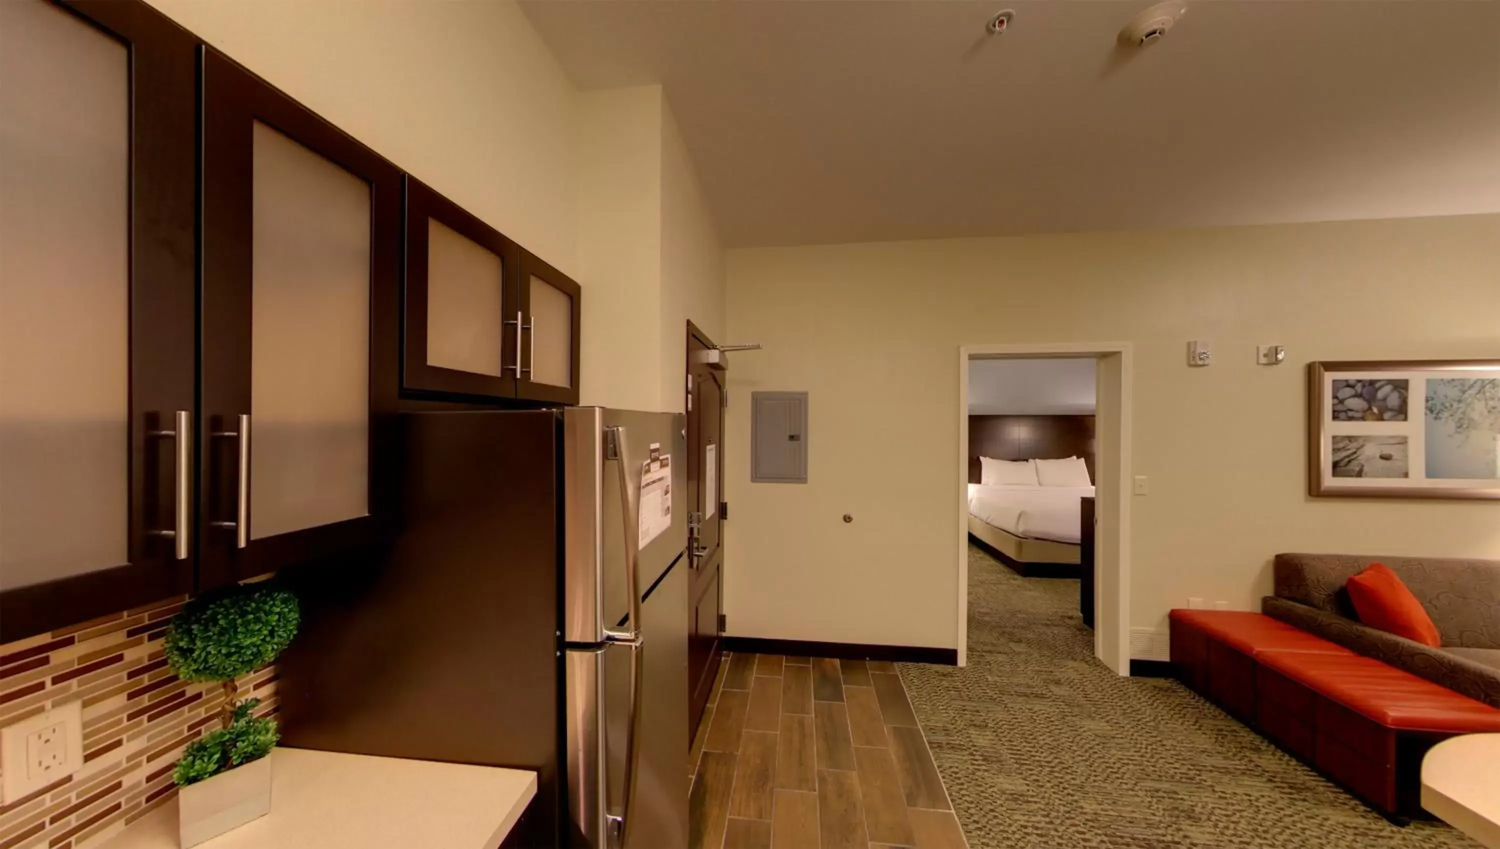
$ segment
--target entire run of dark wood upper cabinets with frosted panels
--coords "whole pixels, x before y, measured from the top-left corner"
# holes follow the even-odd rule
[[[578,402],[573,280],[147,3],[0,0],[0,642],[380,542],[402,405]]]

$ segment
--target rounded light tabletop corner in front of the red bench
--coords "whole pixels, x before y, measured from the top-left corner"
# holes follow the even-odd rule
[[[1422,807],[1500,849],[1500,734],[1466,734],[1422,759]]]

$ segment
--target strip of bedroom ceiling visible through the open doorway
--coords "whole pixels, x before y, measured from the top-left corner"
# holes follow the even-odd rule
[[[970,360],[975,416],[1094,416],[1095,360]]]

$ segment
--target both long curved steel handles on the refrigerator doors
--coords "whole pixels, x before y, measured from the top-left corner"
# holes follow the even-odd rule
[[[630,648],[630,717],[626,726],[626,776],[621,788],[621,810],[609,814],[610,832],[616,848],[624,848],[630,837],[632,814],[636,807],[636,772],[640,768],[640,690],[642,664],[640,652],[645,646],[640,642],[640,580],[638,566],[640,560],[640,472],[630,456],[630,441],[626,429],[620,426],[604,430],[606,456],[620,464],[620,504],[624,514],[626,531],[626,586],[630,591],[630,630],[606,630],[604,638],[616,645]]]

